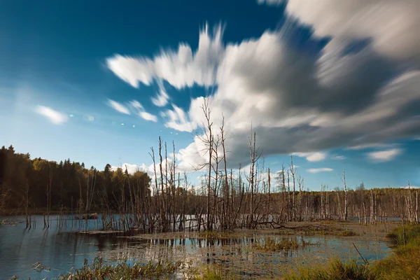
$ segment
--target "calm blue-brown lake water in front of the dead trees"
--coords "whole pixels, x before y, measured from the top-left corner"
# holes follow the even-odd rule
[[[5,220],[10,217],[0,217]],[[244,234],[230,239],[207,240],[197,233],[174,232],[157,235],[127,235],[76,233],[81,229],[96,230],[98,221],[66,221],[66,227],[57,228],[57,217],[50,217],[50,228],[43,229],[42,216],[35,216],[36,228],[25,229],[23,221],[15,225],[0,225],[0,279],[13,275],[20,279],[48,279],[64,274],[71,267],[82,267],[85,259],[92,261],[100,256],[104,260],[129,261],[173,260],[191,261],[195,265],[214,263],[244,276],[267,276],[281,273],[281,269],[325,261],[331,256],[342,259],[358,259],[353,243],[368,260],[383,258],[390,248],[383,239],[368,237],[282,237],[262,233]],[[73,226],[71,226],[73,225]],[[267,253],[253,250],[255,241],[265,238],[304,239],[314,244],[295,251]],[[50,267],[50,271],[38,272],[32,267],[36,262]]]

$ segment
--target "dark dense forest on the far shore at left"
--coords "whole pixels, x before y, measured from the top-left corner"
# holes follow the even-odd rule
[[[13,146],[0,149],[0,210],[20,209],[27,199],[31,209],[47,209],[50,201],[52,211],[80,207],[90,211],[98,209],[104,197],[113,208],[122,190],[130,196],[130,183],[139,186],[142,195],[150,195],[151,178],[145,172],[127,174],[121,168],[113,171],[111,165],[97,170],[69,159],[31,159],[29,153],[15,153]]]

